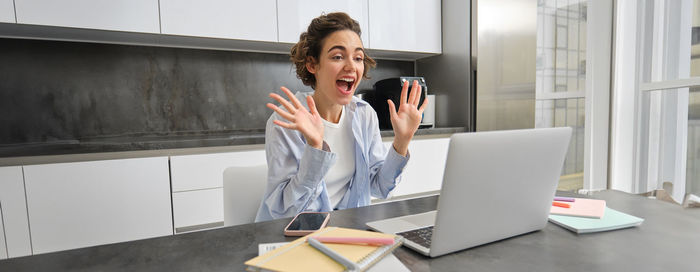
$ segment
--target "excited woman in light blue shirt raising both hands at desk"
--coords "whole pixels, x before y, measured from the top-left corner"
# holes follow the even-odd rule
[[[369,205],[370,194],[386,198],[398,183],[428,100],[418,109],[417,82],[410,95],[403,85],[398,111],[387,100],[395,134],[387,150],[376,113],[353,96],[375,65],[360,33],[347,14],[330,13],[312,20],[292,47],[297,76],[314,92],[282,87],[289,100],[270,94],[281,106],[267,104],[275,112],[265,129],[268,184],[256,221]]]

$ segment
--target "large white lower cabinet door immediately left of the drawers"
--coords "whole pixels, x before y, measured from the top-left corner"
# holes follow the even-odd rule
[[[34,254],[173,234],[168,158],[24,166]]]

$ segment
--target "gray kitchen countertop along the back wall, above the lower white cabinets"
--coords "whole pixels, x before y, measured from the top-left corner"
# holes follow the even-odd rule
[[[465,132],[464,127],[419,129],[417,136],[450,135]],[[393,131],[382,131],[382,137],[393,137]],[[56,156],[69,154],[92,154],[106,152],[162,151],[146,152],[149,155],[172,155],[175,149],[231,147],[262,145],[265,143],[264,129],[236,130],[216,133],[181,133],[176,135],[129,135],[101,137],[83,140],[51,141],[45,143],[0,145],[0,166],[33,164],[36,156]],[[230,148],[228,148],[230,149]],[[143,152],[141,152],[143,153]],[[94,156],[93,156],[94,157]],[[99,156],[98,156],[99,157]],[[105,156],[112,158],[113,156]],[[123,156],[122,156],[123,157]],[[126,157],[139,157],[138,154]],[[39,159],[52,162],[54,160]],[[60,160],[59,160],[60,161]]]

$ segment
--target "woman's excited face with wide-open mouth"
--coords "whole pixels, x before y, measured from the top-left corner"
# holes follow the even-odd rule
[[[357,33],[340,30],[322,42],[317,62],[307,62],[306,68],[316,77],[316,92],[326,105],[347,105],[364,73],[364,48]],[[321,101],[319,101],[321,102]]]

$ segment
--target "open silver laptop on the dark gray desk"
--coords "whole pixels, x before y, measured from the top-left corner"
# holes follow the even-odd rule
[[[547,224],[571,128],[454,134],[437,210],[367,223],[437,257]]]

